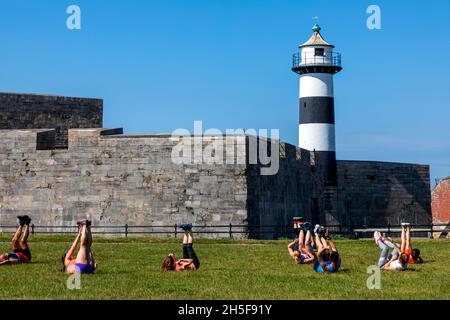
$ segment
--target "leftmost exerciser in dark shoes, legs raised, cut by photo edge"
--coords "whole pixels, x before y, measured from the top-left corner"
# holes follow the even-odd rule
[[[27,243],[28,236],[30,234],[31,219],[29,216],[18,216],[17,218],[19,219],[19,227],[17,228],[11,242],[13,253],[5,253],[0,255],[0,265],[31,262],[31,251]],[[21,235],[22,239],[20,239]]]

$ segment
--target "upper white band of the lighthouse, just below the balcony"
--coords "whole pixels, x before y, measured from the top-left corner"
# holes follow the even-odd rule
[[[333,75],[308,73],[300,77],[300,98],[333,97]]]

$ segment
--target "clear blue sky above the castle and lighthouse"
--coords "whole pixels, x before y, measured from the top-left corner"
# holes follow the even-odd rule
[[[82,29],[66,28],[66,8]],[[366,9],[380,6],[382,29]],[[298,140],[291,56],[312,17],[342,53],[339,159],[450,175],[450,1],[0,0],[0,91],[98,97],[126,133],[278,128]]]

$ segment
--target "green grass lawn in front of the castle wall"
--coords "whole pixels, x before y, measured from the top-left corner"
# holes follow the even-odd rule
[[[10,251],[0,235],[0,251]],[[0,267],[0,299],[449,299],[450,241],[416,240],[425,264],[404,272],[383,271],[382,289],[366,286],[367,267],[379,250],[369,240],[339,240],[341,270],[318,274],[288,256],[287,241],[196,241],[201,267],[162,273],[165,254],[181,255],[179,239],[94,238],[99,263],[82,276],[82,289],[69,290],[61,255],[73,237],[30,237],[33,262]]]

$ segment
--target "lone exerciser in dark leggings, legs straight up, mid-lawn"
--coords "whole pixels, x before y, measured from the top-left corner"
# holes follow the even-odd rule
[[[177,261],[175,254],[170,253],[161,265],[162,271],[197,270],[200,268],[200,261],[193,247],[192,225],[182,224],[179,227],[184,230],[183,259]]]

